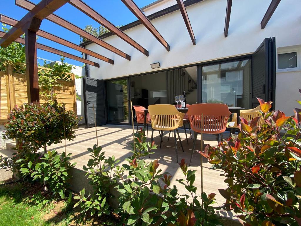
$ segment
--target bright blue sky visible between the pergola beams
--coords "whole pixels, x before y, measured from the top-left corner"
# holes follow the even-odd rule
[[[30,0],[31,2],[37,4],[40,0]],[[113,23],[115,26],[117,25],[126,25],[129,24],[137,18],[132,14],[131,11],[120,1],[120,0],[83,0],[87,5],[94,8],[99,14],[104,16],[107,20]],[[154,2],[155,0],[134,0],[139,8],[142,8],[145,5]],[[28,11],[16,6],[14,4],[14,0],[2,0],[0,7],[0,14],[12,17],[16,20],[20,20]],[[75,24],[80,28],[84,28],[88,24],[92,24],[94,27],[99,27],[100,24],[92,20],[90,17],[86,16],[70,4],[66,4],[57,11],[55,11],[60,17],[63,17],[65,20]],[[2,26],[0,26],[2,27]],[[79,44],[79,35],[57,25],[48,20],[43,20],[41,30],[45,30],[49,33],[67,39],[70,42]],[[81,57],[81,53],[70,49],[66,46],[62,46],[57,44],[56,42],[49,41],[48,39],[39,38],[39,43],[42,43],[47,46],[51,46],[55,49],[59,49],[73,55],[77,55]],[[58,60],[58,56],[52,53],[45,52],[43,50],[38,49],[38,57],[45,58],[51,61]],[[74,61],[66,58],[66,62],[74,65],[82,65],[81,62]],[[43,61],[39,60],[40,64],[43,64]]]

